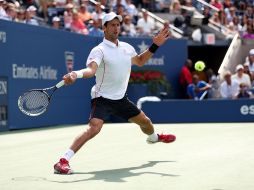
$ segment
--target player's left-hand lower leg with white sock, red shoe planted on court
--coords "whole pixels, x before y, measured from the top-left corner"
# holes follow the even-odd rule
[[[57,174],[71,174],[72,170],[69,165],[69,160],[74,154],[90,139],[95,137],[103,126],[103,120],[93,118],[90,120],[88,128],[78,135],[73,141],[70,148],[60,158],[59,162],[54,165],[54,172]]]

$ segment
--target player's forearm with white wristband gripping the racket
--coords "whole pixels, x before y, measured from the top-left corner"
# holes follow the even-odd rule
[[[95,75],[97,68],[97,64],[95,62],[91,62],[85,69],[72,71],[71,73],[64,75],[64,83],[66,85],[70,85],[73,84],[77,78],[91,78]]]

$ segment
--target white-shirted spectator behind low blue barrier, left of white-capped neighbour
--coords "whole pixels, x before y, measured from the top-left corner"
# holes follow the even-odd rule
[[[238,82],[232,80],[230,71],[226,71],[224,74],[224,81],[220,84],[221,97],[232,99],[237,96],[238,92],[239,92]]]

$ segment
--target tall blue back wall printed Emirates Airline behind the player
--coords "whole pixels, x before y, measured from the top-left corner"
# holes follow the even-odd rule
[[[131,43],[138,53],[151,44],[151,39],[123,40]],[[18,110],[17,99],[28,89],[55,85],[71,67],[83,68],[91,48],[100,41],[101,38],[0,20],[0,83],[8,89],[0,95],[3,113],[0,127],[86,123],[94,79],[79,80],[75,85],[59,89],[48,111],[39,117],[23,115]],[[178,74],[186,58],[186,40],[169,40],[145,68],[163,70],[177,88]]]

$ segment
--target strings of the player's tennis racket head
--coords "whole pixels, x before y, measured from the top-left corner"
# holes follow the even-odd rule
[[[19,106],[29,115],[39,115],[46,111],[49,105],[49,97],[43,91],[30,91],[19,100]]]

